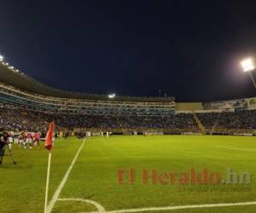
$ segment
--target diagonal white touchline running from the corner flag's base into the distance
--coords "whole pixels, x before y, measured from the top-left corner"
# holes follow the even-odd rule
[[[78,150],[78,152],[76,153],[75,157],[73,158],[72,163],[71,163],[70,166],[68,167],[68,170],[67,170],[65,176],[63,177],[63,179],[62,179],[62,181],[61,181],[59,187],[57,187],[54,196],[53,196],[52,199],[49,201],[49,205],[48,205],[48,207],[47,207],[47,212],[48,212],[48,213],[51,212],[51,210],[53,209],[53,207],[54,207],[54,205],[55,205],[57,199],[59,198],[60,193],[61,193],[61,190],[62,190],[62,188],[64,187],[65,183],[67,182],[67,178],[68,178],[68,176],[69,176],[71,170],[73,169],[73,165],[75,164],[75,162],[76,162],[76,160],[77,160],[77,158],[78,158],[78,156],[79,156],[79,153],[81,152],[82,148],[84,147],[84,143],[85,143],[85,139],[84,139],[82,145],[79,147],[79,150]]]

